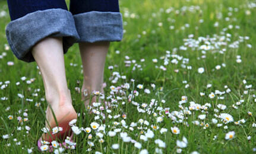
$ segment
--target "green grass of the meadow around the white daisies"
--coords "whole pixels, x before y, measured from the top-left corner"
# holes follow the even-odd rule
[[[107,83],[105,94],[106,97],[110,95],[109,87],[111,85],[121,86],[125,82],[129,83],[130,88],[125,91],[125,95],[115,94],[115,97],[123,98],[115,103],[117,107],[113,107],[112,113],[110,113],[112,116],[127,114],[127,118],[123,119],[121,116],[116,119],[106,119],[106,134],[103,136],[105,142],[102,144],[98,142],[99,137],[96,137],[96,131],[91,131],[92,139],[88,139],[89,134],[82,131],[75,136],[76,149],[65,150],[65,153],[87,153],[87,149],[90,148],[87,144],[88,141],[94,142],[91,153],[96,151],[139,153],[142,149],[147,149],[149,153],[155,153],[155,149],[158,147],[154,142],[156,139],[165,142],[166,147],[159,147],[163,153],[176,153],[179,148],[176,145],[176,140],[182,140],[183,136],[187,138],[188,145],[182,148],[182,153],[193,151],[199,153],[253,153],[253,148],[256,147],[256,128],[252,127],[252,124],[255,123],[256,114],[256,102],[254,100],[256,9],[248,8],[248,4],[251,2],[253,1],[120,1],[125,33],[121,42],[113,42],[110,45],[105,65],[105,82]],[[27,153],[27,149],[31,147],[33,147],[33,153],[39,153],[36,144],[42,134],[41,129],[45,127],[43,110],[46,110],[47,107],[46,101],[41,100],[41,98],[45,98],[42,76],[39,75],[36,63],[21,62],[12,54],[11,50],[5,50],[5,46],[8,44],[5,37],[5,27],[10,22],[10,17],[8,16],[7,2],[0,1],[0,5],[2,6],[0,12],[7,12],[7,15],[0,17],[0,55],[7,54],[0,59],[0,82],[4,85],[5,81],[10,81],[7,88],[0,89],[0,98],[8,98],[8,100],[0,99],[0,153]],[[192,6],[194,6],[193,11],[189,11]],[[167,13],[166,10],[170,7],[172,7],[172,11]],[[246,14],[246,12],[250,12],[250,14]],[[227,17],[229,17],[229,21],[226,20]],[[200,23],[200,21],[203,22]],[[216,22],[219,25],[214,27]],[[171,30],[170,26],[174,26],[174,28]],[[231,26],[232,28],[229,28]],[[236,26],[239,26],[239,29]],[[226,45],[220,46],[219,49],[205,50],[206,53],[203,54],[198,47],[192,49],[185,45],[184,39],[188,39],[190,34],[194,35],[192,37],[194,40],[198,40],[198,37],[211,38],[211,45],[213,42],[220,42],[219,38],[222,36],[229,38],[229,40],[223,40],[222,42],[225,42]],[[230,37],[227,37],[229,34]],[[248,36],[249,39],[239,39],[245,36]],[[235,41],[239,41],[238,47],[230,47],[229,45]],[[192,40],[188,42],[191,43]],[[206,41],[200,42],[199,46],[203,44],[206,44]],[[248,44],[251,44],[252,47],[248,47]],[[180,47],[182,46],[186,46],[187,49],[181,50]],[[220,53],[223,49],[225,52]],[[116,50],[119,50],[120,53],[117,54]],[[164,65],[163,59],[167,56],[166,51],[170,51],[170,55],[177,54],[181,57],[177,65],[171,62],[175,59],[172,56],[167,57],[169,64]],[[201,57],[203,55],[205,58]],[[238,55],[241,56],[241,63],[236,62]],[[129,60],[135,60],[135,62],[131,63],[131,66],[125,66],[125,56],[129,56]],[[161,59],[162,56],[163,59]],[[188,63],[183,64],[185,68],[182,65],[184,58],[188,59]],[[145,59],[145,61],[141,62],[141,59]],[[153,59],[157,59],[158,62],[154,63]],[[14,65],[8,66],[7,62],[14,62]],[[70,63],[75,63],[77,66],[71,66]],[[225,67],[222,66],[223,63],[225,63]],[[81,84],[77,84],[77,81],[83,81],[80,65],[78,45],[74,44],[65,54],[65,66],[73,105],[75,110],[83,115],[86,111],[83,102],[80,101],[80,94],[75,91],[76,86],[81,88]],[[156,66],[160,67],[161,65],[166,70],[156,68]],[[221,66],[219,70],[215,68],[217,65]],[[109,66],[115,67],[113,70],[109,70]],[[191,66],[192,69],[187,69],[187,66]],[[204,68],[204,72],[198,73],[198,68]],[[175,70],[178,70],[178,73]],[[113,72],[119,72],[120,75],[125,75],[127,79],[120,78],[116,84],[112,84],[109,78]],[[32,84],[26,84],[26,81],[21,81],[22,76],[26,76],[26,81],[31,78],[34,78],[35,81]],[[131,79],[135,81],[131,82]],[[243,84],[243,80],[246,80],[246,84]],[[188,88],[185,88],[187,84],[184,84],[183,81],[187,81]],[[16,82],[20,82],[20,85],[17,86]],[[143,89],[138,89],[138,84],[143,84]],[[155,84],[156,89],[153,89],[151,84]],[[207,88],[207,84],[211,84],[211,88]],[[223,100],[217,99],[219,95],[213,99],[208,97],[211,92],[216,90],[226,91],[225,85],[231,92],[223,94],[221,96],[224,97]],[[252,85],[252,88],[246,89],[245,85]],[[150,89],[151,93],[146,94],[145,88]],[[40,91],[37,91],[38,96],[34,97],[33,93],[36,89],[40,89]],[[134,89],[137,89],[139,95],[134,97],[132,101],[138,102],[140,105],[148,104],[148,110],[156,113],[156,116],[153,113],[138,113],[137,107],[128,101],[128,94],[131,94]],[[248,93],[244,94],[246,90]],[[204,92],[205,95],[202,97],[200,92]],[[24,98],[18,97],[18,94],[23,94]],[[184,114],[181,123],[173,121],[164,111],[156,110],[157,107],[162,107],[163,109],[169,108],[170,113],[172,111],[182,113],[183,110],[179,107],[182,96],[187,96],[187,102],[182,104],[184,108],[188,108],[191,101],[201,105],[208,102],[211,107],[208,108],[207,113],[202,113],[203,109],[189,110],[191,114]],[[26,100],[27,98],[33,101],[30,102]],[[158,101],[157,106],[149,108],[151,99]],[[161,100],[166,102],[162,103]],[[244,102],[241,105],[236,105],[239,100],[244,100]],[[35,107],[36,102],[41,103],[40,107]],[[125,104],[122,105],[122,102]],[[220,110],[217,104],[225,104],[226,109]],[[233,104],[238,108],[233,108]],[[6,110],[8,107],[10,110]],[[214,112],[215,108],[219,109],[219,113]],[[248,111],[251,111],[252,115],[248,115]],[[17,117],[24,118],[24,112],[28,114],[29,121],[23,121],[23,124],[18,123]],[[224,124],[220,118],[214,117],[214,114],[219,115],[220,113],[229,113],[233,116],[234,121],[244,118],[246,122],[240,125],[233,122]],[[206,114],[206,118],[204,120],[198,119],[200,114]],[[8,115],[12,115],[14,119],[9,120]],[[106,113],[106,115],[109,114]],[[160,116],[163,117],[163,121],[157,123],[156,119]],[[77,126],[90,127],[90,123],[93,121],[102,124],[101,120],[94,120],[94,117],[94,115],[88,114],[78,117]],[[179,120],[178,117],[176,118]],[[218,123],[223,124],[223,126],[217,127],[217,124],[211,122],[212,118],[216,118]],[[138,127],[135,126],[133,131],[129,130],[129,125],[132,122],[140,126],[138,123],[140,119],[147,120],[149,123],[148,126],[143,125],[143,134],[147,132],[148,128],[153,130],[151,124],[159,127],[158,130],[153,130],[154,137],[146,142],[140,139],[141,130]],[[113,124],[113,121],[121,122],[121,120],[125,120],[128,128],[121,124],[118,126]],[[192,123],[194,120],[204,124],[208,123],[209,127],[204,129],[203,126],[197,126]],[[184,123],[187,123],[188,126]],[[26,133],[25,126],[31,128],[29,133]],[[179,128],[180,134],[172,133],[170,127],[174,126]],[[228,128],[224,129],[224,126]],[[23,129],[19,131],[17,127]],[[108,131],[113,131],[115,128],[120,128],[121,132],[127,132],[129,137],[141,143],[141,149],[135,147],[134,143],[124,143],[119,133],[114,137],[109,137]],[[167,132],[161,134],[160,129],[162,128],[166,128]],[[235,131],[235,137],[226,140],[225,135],[229,131]],[[5,134],[12,135],[9,139],[4,139],[2,136]],[[214,139],[214,136],[217,138]],[[250,140],[247,139],[248,136],[251,136]],[[20,145],[16,145],[18,142]],[[119,144],[117,150],[112,149],[112,145],[115,143]]]

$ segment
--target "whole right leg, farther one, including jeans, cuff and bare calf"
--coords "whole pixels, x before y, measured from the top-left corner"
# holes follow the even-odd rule
[[[75,20],[80,40],[81,60],[83,63],[83,86],[89,95],[92,91],[103,93],[103,75],[106,54],[111,41],[122,40],[122,15],[118,0],[78,1],[71,0],[70,11]],[[84,99],[82,95],[82,99]],[[92,102],[96,100],[93,97]],[[85,101],[85,105],[89,100]]]

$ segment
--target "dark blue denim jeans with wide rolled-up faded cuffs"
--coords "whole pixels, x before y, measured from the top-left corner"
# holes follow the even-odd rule
[[[62,37],[64,53],[77,42],[121,41],[118,0],[8,0],[5,33],[15,56],[34,62],[31,49],[45,37]]]

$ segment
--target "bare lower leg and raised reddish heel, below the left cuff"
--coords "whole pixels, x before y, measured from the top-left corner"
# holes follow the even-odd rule
[[[53,117],[54,113],[58,126],[65,129],[62,131],[63,133],[67,133],[69,121],[77,118],[77,114],[72,106],[71,94],[67,86],[62,38],[48,37],[43,39],[33,47],[31,53],[42,73],[45,86],[46,101],[48,102],[46,127],[50,129],[57,126]],[[63,135],[58,134],[58,136]],[[56,136],[52,137],[54,139]],[[43,140],[49,141],[51,136],[44,134]]]

